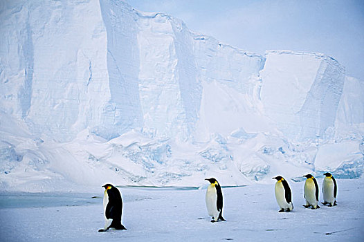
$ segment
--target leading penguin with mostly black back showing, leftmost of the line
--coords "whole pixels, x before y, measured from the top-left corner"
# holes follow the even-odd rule
[[[116,230],[127,230],[124,225],[121,224],[122,214],[122,198],[119,189],[111,184],[103,185],[104,191],[104,229],[98,230],[98,232],[106,232],[110,227]]]

